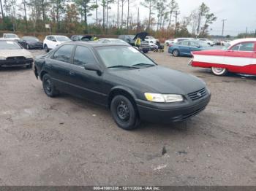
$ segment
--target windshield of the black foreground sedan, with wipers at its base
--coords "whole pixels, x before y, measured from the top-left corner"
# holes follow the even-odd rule
[[[109,46],[97,47],[97,52],[106,67],[137,68],[157,66],[153,61],[143,55],[134,47],[127,46]]]

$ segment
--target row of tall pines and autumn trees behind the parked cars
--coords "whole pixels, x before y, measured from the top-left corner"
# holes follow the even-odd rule
[[[176,0],[0,0],[1,31],[207,36],[217,17],[202,3],[181,17]],[[141,10],[147,16],[141,18]]]

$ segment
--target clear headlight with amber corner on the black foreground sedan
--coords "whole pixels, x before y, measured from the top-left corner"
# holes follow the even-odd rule
[[[147,101],[153,101],[153,102],[178,102],[178,101],[184,101],[184,98],[182,95],[178,94],[161,94],[161,93],[144,93]]]

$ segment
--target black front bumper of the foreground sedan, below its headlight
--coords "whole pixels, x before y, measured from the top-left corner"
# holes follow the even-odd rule
[[[202,112],[211,100],[211,93],[197,101],[185,100],[182,103],[154,103],[136,100],[140,119],[148,122],[180,122]]]

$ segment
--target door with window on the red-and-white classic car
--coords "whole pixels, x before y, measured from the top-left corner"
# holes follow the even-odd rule
[[[248,73],[255,56],[255,42],[240,42],[225,52],[224,63],[233,72]]]

